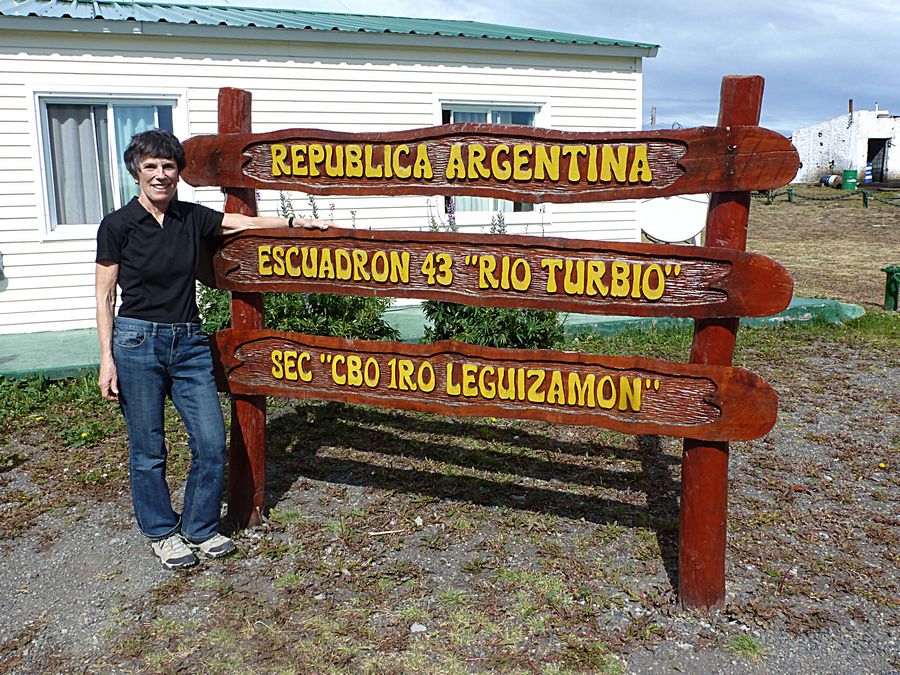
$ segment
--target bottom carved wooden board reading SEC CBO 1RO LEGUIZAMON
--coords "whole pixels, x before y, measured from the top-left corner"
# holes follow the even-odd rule
[[[740,368],[639,357],[216,333],[232,394],[361,403],[455,416],[537,419],[633,434],[749,440],[775,423],[775,392]],[[227,385],[225,384],[227,380]]]

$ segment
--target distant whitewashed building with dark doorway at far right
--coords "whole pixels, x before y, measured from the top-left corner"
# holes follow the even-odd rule
[[[876,183],[900,180],[900,117],[887,110],[855,110],[798,129],[791,141],[803,164],[796,183],[847,169],[856,169],[862,181],[867,164]]]

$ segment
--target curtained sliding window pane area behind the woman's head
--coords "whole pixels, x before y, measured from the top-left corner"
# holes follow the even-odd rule
[[[122,153],[132,135],[174,131],[174,101],[42,98],[50,230],[96,225],[137,195]]]

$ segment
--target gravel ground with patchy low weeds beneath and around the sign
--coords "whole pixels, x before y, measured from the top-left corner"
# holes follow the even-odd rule
[[[722,610],[675,603],[673,439],[309,404],[271,415],[236,557],[162,569],[123,479],[7,534],[0,670],[900,672],[897,355],[775,351],[740,353],[781,406],[732,446]],[[57,446],[5,441],[3,510]]]

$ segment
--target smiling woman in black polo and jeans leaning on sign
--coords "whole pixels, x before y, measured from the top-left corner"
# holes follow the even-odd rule
[[[100,392],[118,401],[128,427],[131,494],[138,527],[169,568],[235,550],[218,532],[225,425],[207,337],[200,330],[196,271],[200,240],[245,229],[324,229],[311,219],[223,214],[175,198],[184,148],[174,135],[135,135],[125,165],[140,194],[103,219],[97,232]],[[122,305],[113,318],[116,286]],[[191,449],[182,514],[166,483],[164,404],[171,397]]]

